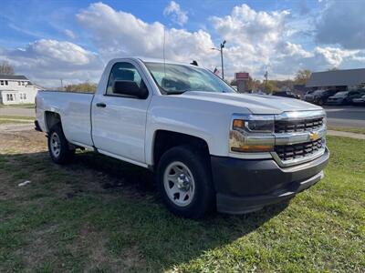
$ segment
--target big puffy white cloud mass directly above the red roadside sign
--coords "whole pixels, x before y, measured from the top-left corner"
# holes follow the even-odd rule
[[[290,19],[287,10],[257,12],[245,4],[235,6],[231,15],[212,17],[214,29],[227,40],[226,64],[231,75],[245,70],[262,79],[267,66],[270,76],[292,76],[302,59],[312,54],[289,42],[295,33],[287,25]]]

